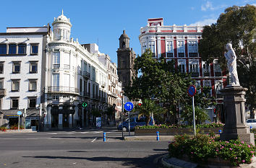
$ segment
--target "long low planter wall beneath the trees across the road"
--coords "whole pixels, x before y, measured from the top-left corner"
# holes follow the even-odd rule
[[[218,133],[223,128],[200,128],[200,133]],[[135,136],[155,136],[159,131],[160,136],[176,136],[180,134],[194,134],[193,128],[140,128],[135,129]]]

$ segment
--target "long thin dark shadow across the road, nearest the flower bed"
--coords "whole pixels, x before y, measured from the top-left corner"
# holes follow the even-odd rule
[[[86,152],[86,151],[70,151],[70,152]],[[127,167],[143,167],[143,168],[153,168],[159,167],[160,164],[153,163],[155,158],[158,156],[162,156],[163,154],[154,154],[145,158],[135,158],[135,157],[109,157],[109,156],[101,156],[101,157],[81,157],[81,156],[22,156],[24,158],[35,158],[35,159],[79,159],[79,160],[87,160],[91,162],[121,162],[122,166]],[[160,166],[161,167],[161,166]]]

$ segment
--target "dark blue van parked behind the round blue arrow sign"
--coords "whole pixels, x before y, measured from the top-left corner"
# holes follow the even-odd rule
[[[129,118],[127,118],[127,120],[124,121],[123,125],[119,123],[119,125],[117,126],[117,130],[121,131],[121,129],[123,129],[123,131],[128,131],[130,127],[130,131],[135,131],[136,126],[146,125],[146,120],[147,118],[145,117],[132,117],[130,118],[130,120]],[[153,118],[150,118],[150,122],[148,123],[148,125],[153,125]]]

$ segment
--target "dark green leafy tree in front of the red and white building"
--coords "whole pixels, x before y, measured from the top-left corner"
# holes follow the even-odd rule
[[[135,70],[142,75],[133,79],[131,87],[125,87],[124,94],[129,100],[157,98],[168,115],[171,115],[170,122],[177,123],[177,107],[191,103],[187,88],[192,82],[195,84],[195,81],[192,81],[189,74],[180,73],[179,68],[175,68],[174,61],[166,63],[163,58],[154,59],[150,50],[135,59]],[[197,92],[196,97],[196,103],[200,107],[210,105],[205,94]]]

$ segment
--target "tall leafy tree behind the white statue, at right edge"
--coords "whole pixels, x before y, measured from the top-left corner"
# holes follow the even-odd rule
[[[254,118],[256,107],[256,7],[252,5],[231,6],[225,10],[216,24],[205,26],[199,53],[203,61],[213,62],[218,58],[226,68],[224,52],[226,43],[231,43],[236,53],[239,82],[248,89],[247,105],[250,117]]]

